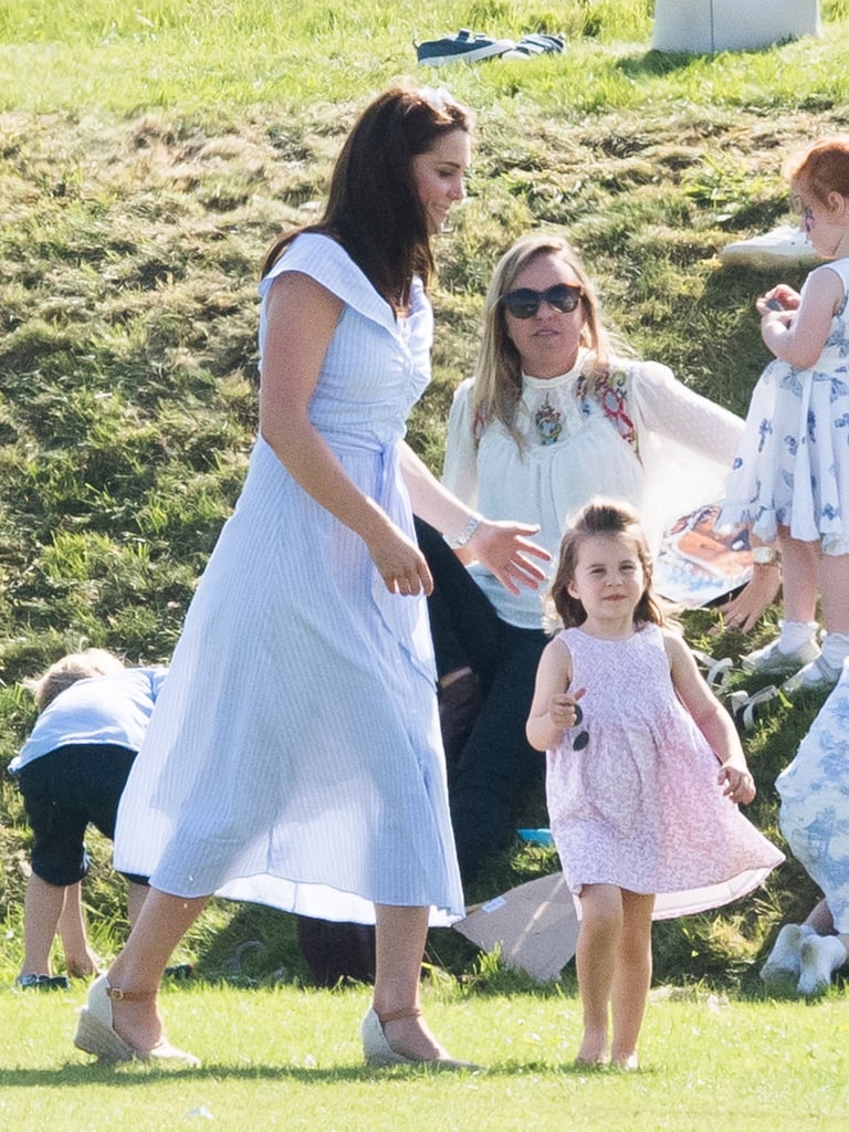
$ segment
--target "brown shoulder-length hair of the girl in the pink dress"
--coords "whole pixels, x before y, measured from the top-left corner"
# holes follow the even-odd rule
[[[581,547],[588,539],[599,534],[625,534],[634,544],[645,580],[643,593],[634,610],[634,620],[637,624],[651,621],[654,625],[667,625],[667,617],[652,590],[652,557],[637,513],[624,500],[598,497],[578,512],[560,541],[560,556],[551,583],[550,600],[563,627],[573,628],[586,620],[586,610],[577,598],[572,597],[569,585],[575,581]]]

